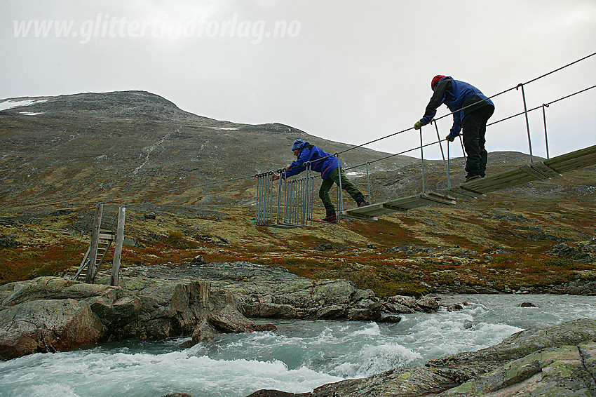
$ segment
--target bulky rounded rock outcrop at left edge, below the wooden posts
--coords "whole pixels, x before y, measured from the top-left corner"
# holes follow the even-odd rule
[[[233,294],[209,281],[129,280],[128,289],[39,277],[0,287],[0,358],[123,338],[250,332]],[[197,337],[197,340],[205,339]]]

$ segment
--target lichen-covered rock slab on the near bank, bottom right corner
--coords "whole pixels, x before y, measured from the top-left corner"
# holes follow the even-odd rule
[[[511,335],[496,346],[405,366],[312,393],[259,390],[249,397],[596,396],[596,320]]]

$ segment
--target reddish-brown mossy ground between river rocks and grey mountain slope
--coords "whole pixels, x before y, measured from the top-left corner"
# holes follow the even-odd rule
[[[377,222],[315,223],[299,229],[257,227],[252,209],[242,207],[217,210],[217,216],[181,215],[172,208],[158,213],[156,220],[127,210],[125,234],[137,245],[125,246],[122,262],[123,267],[175,266],[196,255],[207,262],[245,260],[308,278],[346,278],[377,295],[420,295],[456,283],[496,289],[509,285],[515,290],[566,283],[596,268],[594,262],[553,254],[557,243],[574,245],[595,237],[596,200],[585,190],[594,183],[594,171],[574,175],[564,188],[537,182],[531,191],[508,189],[450,208],[433,206],[384,215]],[[535,192],[555,188],[559,192],[552,196]],[[568,196],[563,200],[560,194]],[[0,248],[0,283],[74,274],[89,245],[86,229],[92,210],[2,215],[0,236],[10,236],[19,245]],[[104,217],[109,211],[104,209]],[[316,208],[315,217],[320,215]],[[313,249],[321,244],[332,248]],[[406,244],[442,249],[435,255],[386,251]],[[473,253],[460,257],[454,247]],[[111,254],[106,261],[102,269],[109,269]]]

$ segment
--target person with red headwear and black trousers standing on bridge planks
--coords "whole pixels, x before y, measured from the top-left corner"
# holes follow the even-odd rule
[[[439,74],[431,81],[434,91],[426,112],[414,128],[420,129],[430,123],[441,104],[447,105],[453,112],[453,126],[445,139],[453,142],[463,128],[463,147],[466,149],[466,182],[485,177],[487,170],[487,151],[485,133],[487,121],[494,112],[494,103],[475,86],[463,81]]]

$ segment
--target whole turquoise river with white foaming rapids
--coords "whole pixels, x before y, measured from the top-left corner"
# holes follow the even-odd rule
[[[594,297],[454,295],[461,311],[409,314],[397,324],[276,321],[276,332],[220,335],[190,348],[188,338],[120,342],[33,354],[0,363],[0,396],[247,396],[293,393],[345,378],[500,342],[514,332],[573,318],[596,318]],[[531,302],[537,307],[520,308]]]

